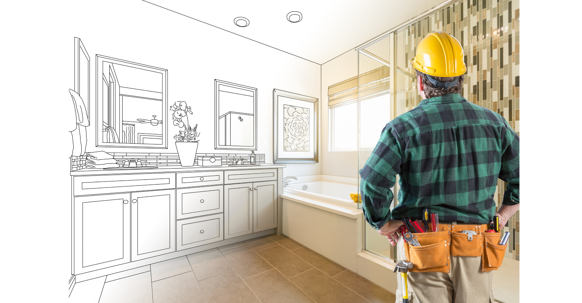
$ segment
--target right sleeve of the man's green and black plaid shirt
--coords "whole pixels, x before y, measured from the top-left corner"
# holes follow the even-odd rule
[[[506,181],[508,187],[503,194],[504,205],[515,205],[519,203],[519,136],[508,125],[505,119],[505,138],[503,138],[501,156],[501,170],[499,179]]]

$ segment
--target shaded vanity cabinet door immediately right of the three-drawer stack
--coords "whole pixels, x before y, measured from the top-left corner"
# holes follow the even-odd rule
[[[253,233],[253,183],[224,186],[224,238]]]

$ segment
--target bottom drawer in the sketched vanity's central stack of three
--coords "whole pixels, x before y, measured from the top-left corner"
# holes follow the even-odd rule
[[[176,221],[176,251],[223,240],[222,220],[222,213],[218,213]]]

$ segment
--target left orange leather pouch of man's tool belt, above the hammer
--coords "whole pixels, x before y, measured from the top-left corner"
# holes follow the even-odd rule
[[[414,233],[420,246],[404,243],[406,258],[414,264],[410,272],[450,272],[448,231]]]

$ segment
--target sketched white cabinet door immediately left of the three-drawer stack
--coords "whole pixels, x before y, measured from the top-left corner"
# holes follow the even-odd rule
[[[176,251],[175,190],[132,193],[132,262]]]

